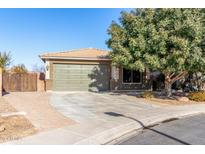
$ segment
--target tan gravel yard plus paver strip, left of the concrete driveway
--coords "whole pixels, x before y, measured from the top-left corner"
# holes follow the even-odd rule
[[[13,92],[0,97],[0,143],[75,124],[57,112],[50,99],[51,94],[44,92]]]

